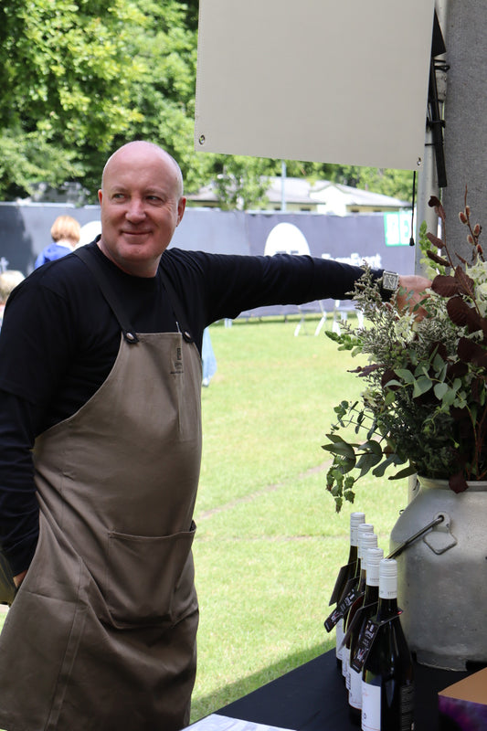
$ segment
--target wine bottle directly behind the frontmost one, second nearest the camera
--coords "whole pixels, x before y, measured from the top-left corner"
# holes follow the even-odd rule
[[[357,645],[365,629],[368,620],[377,613],[377,602],[379,600],[379,564],[384,558],[382,548],[367,548],[365,550],[365,595],[364,602],[360,608],[355,627],[350,635],[350,662],[348,673],[350,676],[348,690],[348,707],[350,720],[356,726],[360,726],[362,712],[362,671],[354,668],[354,658]]]

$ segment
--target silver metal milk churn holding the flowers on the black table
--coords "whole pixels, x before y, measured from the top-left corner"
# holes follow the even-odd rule
[[[390,539],[401,623],[418,662],[465,670],[487,663],[487,482],[418,481]]]

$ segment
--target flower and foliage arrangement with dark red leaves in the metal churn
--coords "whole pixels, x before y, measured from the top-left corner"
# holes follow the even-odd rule
[[[369,471],[389,479],[418,473],[448,480],[461,493],[468,481],[487,478],[487,265],[467,205],[460,219],[468,229],[470,260],[450,254],[446,216],[432,197],[442,236],[426,233],[420,247],[432,280],[425,299],[399,311],[382,302],[378,283],[365,268],[353,292],[365,327],[345,323],[327,333],[339,349],[367,355],[356,373],[365,382],[361,399],[334,411],[337,423],[323,449],[333,462],[326,476],[336,510],[354,502],[355,482]],[[346,434],[355,434],[350,440]]]

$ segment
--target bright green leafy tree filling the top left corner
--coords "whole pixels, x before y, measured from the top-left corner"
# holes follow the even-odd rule
[[[123,0],[5,0],[0,11],[0,194],[83,181],[90,155],[140,116],[126,50],[143,16]],[[80,154],[82,151],[82,154]]]

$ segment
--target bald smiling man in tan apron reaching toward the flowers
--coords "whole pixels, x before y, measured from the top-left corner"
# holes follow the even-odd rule
[[[204,328],[343,299],[362,273],[166,250],[183,181],[152,143],[111,156],[99,197],[101,238],[33,272],[0,337],[0,538],[19,587],[0,637],[8,731],[185,726]]]

